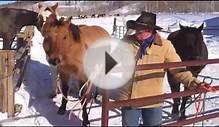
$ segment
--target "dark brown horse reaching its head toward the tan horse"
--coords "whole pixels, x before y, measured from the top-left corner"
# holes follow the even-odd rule
[[[3,49],[11,49],[11,45],[23,26],[34,25],[40,31],[43,19],[38,13],[25,9],[0,9],[0,37],[3,38]]]

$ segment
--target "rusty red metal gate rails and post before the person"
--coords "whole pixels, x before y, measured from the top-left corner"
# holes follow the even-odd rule
[[[209,59],[209,60],[195,60],[195,61],[185,61],[185,62],[171,62],[171,63],[160,63],[160,64],[145,64],[145,65],[137,65],[136,68],[138,71],[140,70],[148,70],[148,69],[161,69],[161,68],[170,68],[170,67],[180,67],[180,66],[197,66],[197,65],[205,65],[205,64],[215,64],[219,63],[219,59]],[[143,80],[143,79],[142,79]],[[214,86],[216,90],[219,90],[219,86]],[[144,98],[138,98],[138,99],[130,99],[130,100],[120,100],[120,101],[109,101],[109,91],[103,90],[102,93],[102,120],[101,125],[102,126],[108,126],[108,118],[109,118],[109,110],[123,107],[123,106],[145,106],[150,105],[158,102],[163,102],[165,99],[171,99],[171,98],[177,98],[182,96],[189,96],[194,95],[197,93],[206,93],[205,90],[197,90],[197,91],[183,91],[183,92],[176,92],[176,93],[168,93],[168,94],[162,94],[152,97],[144,97]],[[174,123],[174,125],[184,125],[184,124],[190,124],[193,122],[198,122],[210,118],[219,117],[219,113],[212,113],[207,114],[204,117],[197,117],[193,118],[190,121],[184,121],[181,123]]]

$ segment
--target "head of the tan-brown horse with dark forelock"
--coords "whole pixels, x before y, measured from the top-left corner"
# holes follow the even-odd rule
[[[76,25],[71,23],[71,20],[72,16],[66,20],[63,17],[58,20],[54,15],[50,15],[42,28],[43,47],[49,57],[48,62],[50,64],[59,64],[63,56],[66,55],[64,51],[81,46],[74,45],[80,40],[80,31]]]

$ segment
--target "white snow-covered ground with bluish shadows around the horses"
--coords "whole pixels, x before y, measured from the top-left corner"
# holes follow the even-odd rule
[[[202,22],[206,22],[205,26],[219,26],[217,20],[218,13],[202,13],[202,14],[168,14],[159,13],[157,14],[157,24],[164,28],[164,30],[169,29],[174,31],[179,29],[178,23],[182,25],[189,26],[199,26]],[[135,20],[138,15],[127,15],[118,19],[118,25],[124,25],[124,23],[129,20]],[[212,20],[217,21],[212,21]],[[120,23],[119,23],[120,21]],[[75,24],[88,24],[88,25],[99,25],[105,28],[110,34],[113,28],[113,17],[103,17],[103,18],[88,18],[88,19],[73,19]],[[160,32],[163,37],[167,37],[168,33]],[[219,32],[218,30],[204,30],[204,40],[207,44],[209,51],[209,59],[219,57]],[[60,105],[61,95],[57,98],[49,99],[49,93],[53,88],[52,81],[50,77],[50,68],[46,61],[45,52],[42,47],[42,37],[39,31],[35,29],[35,36],[33,38],[33,46],[31,47],[31,62],[27,66],[27,72],[24,76],[25,81],[23,82],[20,90],[15,93],[15,103],[22,104],[23,108],[20,114],[17,114],[14,118],[7,118],[6,113],[0,113],[0,125],[22,125],[22,126],[46,126],[46,125],[81,125],[81,115],[77,118],[80,106],[77,106],[73,110],[73,115],[71,119],[68,120],[68,114],[71,111],[71,107],[77,102],[75,98],[69,96],[69,99],[75,100],[73,102],[68,102],[67,110],[65,115],[57,115],[56,111]],[[219,77],[218,64],[207,65],[201,72],[202,75]],[[201,79],[201,78],[200,78]],[[214,81],[213,85],[218,84],[219,81]],[[170,92],[169,85],[167,81],[164,81],[166,93]],[[207,98],[212,97],[213,99],[206,101],[205,110],[210,110],[214,108],[219,108],[219,93],[208,93]],[[167,102],[172,102],[172,100],[167,100]],[[169,103],[164,103],[168,106]],[[167,116],[170,113],[170,108],[163,109],[163,116]],[[187,109],[187,115],[195,113],[194,105],[191,105]],[[167,119],[167,117],[164,117]],[[91,125],[101,125],[101,104],[93,103],[89,120]],[[219,125],[219,118],[211,119],[205,121],[205,125]],[[198,123],[199,125],[201,123]],[[121,125],[121,114],[119,109],[110,111],[109,125]]]

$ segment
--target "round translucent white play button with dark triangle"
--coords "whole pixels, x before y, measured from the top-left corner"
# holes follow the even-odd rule
[[[133,76],[135,59],[127,42],[100,39],[85,52],[83,69],[88,79],[102,89],[116,89]]]

